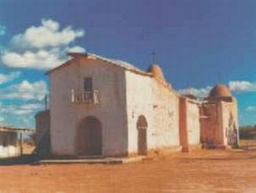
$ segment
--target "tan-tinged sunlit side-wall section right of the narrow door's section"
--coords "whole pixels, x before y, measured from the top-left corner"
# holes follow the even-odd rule
[[[155,148],[179,147],[179,96],[156,79],[152,82]]]

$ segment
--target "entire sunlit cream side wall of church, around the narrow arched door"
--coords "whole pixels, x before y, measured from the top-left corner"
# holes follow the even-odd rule
[[[128,152],[138,152],[137,121],[147,121],[147,148],[160,149],[179,146],[178,96],[153,77],[130,71],[125,74],[127,83]]]

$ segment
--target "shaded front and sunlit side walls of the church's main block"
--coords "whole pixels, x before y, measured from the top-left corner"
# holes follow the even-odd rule
[[[73,56],[48,73],[52,154],[79,154],[79,125],[88,116],[101,124],[102,155],[138,152],[139,116],[146,118],[147,150],[179,147],[178,95],[168,85],[127,63],[96,55]],[[96,102],[77,95],[84,89],[85,77],[92,77]]]

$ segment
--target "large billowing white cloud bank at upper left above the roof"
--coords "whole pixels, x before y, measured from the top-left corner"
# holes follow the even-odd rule
[[[60,30],[54,20],[41,20],[41,26],[28,27],[13,37],[9,48],[2,52],[2,63],[13,68],[52,69],[69,59],[67,52],[85,52],[80,46],[69,46],[84,34],[84,30],[72,27]]]

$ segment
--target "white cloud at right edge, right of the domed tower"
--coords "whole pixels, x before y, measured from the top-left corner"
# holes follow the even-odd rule
[[[229,81],[229,89],[236,92],[256,91],[256,82],[249,81]]]

